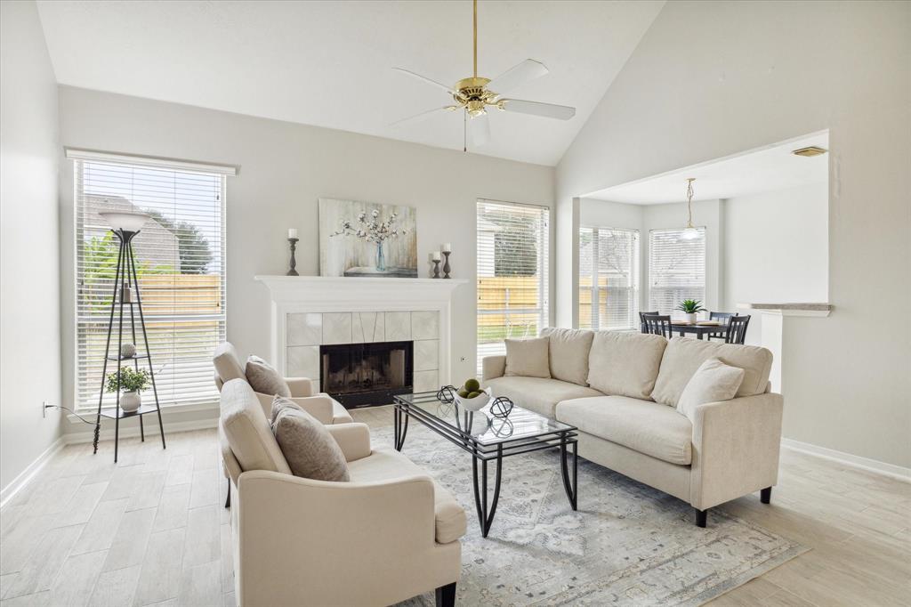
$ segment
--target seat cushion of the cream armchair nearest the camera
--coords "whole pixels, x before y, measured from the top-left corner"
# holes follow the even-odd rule
[[[373,482],[426,475],[412,460],[391,448],[374,448],[369,458],[357,459],[348,463],[348,471],[352,482]],[[448,544],[465,535],[468,521],[465,509],[455,501],[453,494],[434,480],[434,515],[436,527],[436,541]]]

